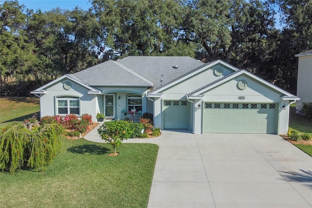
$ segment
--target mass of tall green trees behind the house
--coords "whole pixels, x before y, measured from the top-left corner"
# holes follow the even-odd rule
[[[295,54],[312,48],[312,1],[92,0],[86,11],[0,4],[1,88],[33,90],[126,56],[221,59],[292,93]],[[282,28],[276,28],[276,15]]]

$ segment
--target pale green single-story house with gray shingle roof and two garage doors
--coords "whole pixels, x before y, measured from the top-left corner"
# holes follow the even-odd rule
[[[161,129],[193,133],[288,131],[289,104],[298,97],[226,62],[190,57],[133,57],[67,74],[34,91],[40,115],[98,112],[122,119],[122,110],[154,114]],[[130,114],[131,115],[131,114]]]

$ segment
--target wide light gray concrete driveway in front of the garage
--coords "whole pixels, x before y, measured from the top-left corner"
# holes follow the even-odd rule
[[[312,207],[312,157],[277,135],[163,131],[152,141],[148,208]]]

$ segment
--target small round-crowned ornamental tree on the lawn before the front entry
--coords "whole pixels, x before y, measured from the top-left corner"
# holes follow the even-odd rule
[[[131,123],[123,120],[104,122],[98,128],[98,134],[108,144],[113,146],[114,155],[117,155],[116,147],[119,146],[124,139],[130,138],[133,134]]]

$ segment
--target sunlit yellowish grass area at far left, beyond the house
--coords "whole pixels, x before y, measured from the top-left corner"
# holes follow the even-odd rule
[[[0,126],[39,113],[39,98],[0,98]]]

